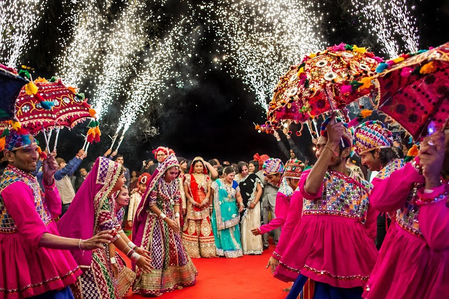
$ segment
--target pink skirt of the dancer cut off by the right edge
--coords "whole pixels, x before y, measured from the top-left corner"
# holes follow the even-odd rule
[[[432,250],[421,236],[394,223],[363,298],[445,298],[449,295],[449,249]]]

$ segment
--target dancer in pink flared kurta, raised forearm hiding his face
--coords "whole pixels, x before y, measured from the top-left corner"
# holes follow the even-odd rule
[[[361,298],[376,263],[372,185],[345,166],[352,139],[335,116],[327,119],[316,145],[318,160],[301,175],[302,216],[279,264],[299,274],[288,299],[296,298],[308,279],[315,282],[315,298]],[[294,275],[278,278],[289,281]]]

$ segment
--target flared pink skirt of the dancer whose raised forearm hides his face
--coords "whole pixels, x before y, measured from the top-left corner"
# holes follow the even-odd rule
[[[340,216],[304,215],[274,273],[294,281],[299,273],[338,288],[365,286],[377,249],[364,226]]]

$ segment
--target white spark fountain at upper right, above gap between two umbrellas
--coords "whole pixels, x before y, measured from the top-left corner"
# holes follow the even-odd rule
[[[390,58],[397,57],[404,48],[418,51],[418,28],[416,17],[411,14],[412,7],[407,0],[354,0],[353,15],[363,15],[362,26],[377,37]],[[400,47],[396,36],[401,38],[404,48]]]

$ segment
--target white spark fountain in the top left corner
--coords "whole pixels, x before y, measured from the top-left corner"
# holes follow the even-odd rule
[[[47,0],[0,1],[0,62],[16,67]]]

